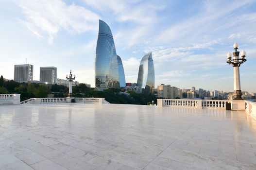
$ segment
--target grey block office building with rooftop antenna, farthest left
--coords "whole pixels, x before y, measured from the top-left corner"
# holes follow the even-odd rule
[[[30,82],[33,80],[33,65],[23,64],[23,65],[14,65],[14,81]]]

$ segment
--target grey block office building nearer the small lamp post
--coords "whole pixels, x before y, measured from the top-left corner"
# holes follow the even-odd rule
[[[40,82],[55,85],[57,83],[57,68],[40,67]]]

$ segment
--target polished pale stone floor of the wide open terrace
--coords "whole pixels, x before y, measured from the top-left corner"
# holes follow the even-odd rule
[[[125,104],[0,106],[0,170],[256,170],[245,112]]]

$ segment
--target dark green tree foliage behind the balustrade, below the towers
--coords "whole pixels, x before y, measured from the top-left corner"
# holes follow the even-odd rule
[[[17,83],[13,80],[5,82],[6,88],[0,89],[1,93],[20,93],[21,101],[30,98],[46,98],[48,94],[54,94],[54,98],[63,98],[68,96],[68,87],[64,85],[39,85],[34,83]],[[50,89],[51,87],[51,89]],[[134,91],[128,91],[130,95],[125,95],[124,88],[109,88],[103,91],[96,91],[85,84],[72,86],[74,97],[82,98],[105,98],[110,103],[121,104],[147,104],[148,102],[157,102],[155,95],[138,94]]]

